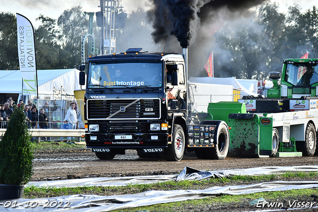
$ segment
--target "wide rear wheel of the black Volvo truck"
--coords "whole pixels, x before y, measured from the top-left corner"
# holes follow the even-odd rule
[[[215,148],[212,148],[212,152],[206,154],[206,156],[209,157],[208,159],[223,160],[227,157],[230,146],[230,133],[226,122],[222,121],[218,126],[216,139],[219,141],[218,145],[215,145]]]

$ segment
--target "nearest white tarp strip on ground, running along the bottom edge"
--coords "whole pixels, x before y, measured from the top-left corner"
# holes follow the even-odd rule
[[[246,186],[211,187],[203,190],[147,191],[133,195],[114,195],[108,197],[97,195],[71,195],[42,199],[17,199],[14,200],[16,201],[15,208],[4,207],[6,202],[0,203],[0,211],[59,212],[72,210],[74,212],[106,212],[162,203],[202,199],[215,195],[243,195],[295,189],[318,189],[318,181],[275,181]],[[8,206],[9,203],[6,204],[6,206]],[[36,206],[30,207],[32,204]],[[29,207],[26,208],[26,206]],[[44,208],[45,206],[48,207]],[[60,208],[57,208],[57,206]],[[317,208],[317,204],[315,203],[312,207]]]

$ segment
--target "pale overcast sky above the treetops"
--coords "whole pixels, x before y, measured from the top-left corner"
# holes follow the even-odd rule
[[[272,0],[273,1],[273,0]],[[303,10],[318,7],[318,0],[275,0],[280,5],[282,12],[287,11],[288,6],[298,3]],[[74,6],[81,5],[85,12],[100,11],[99,0],[0,0],[0,12],[20,13],[26,16],[37,27],[40,22],[35,19],[43,14],[50,18],[57,19],[61,13]],[[140,6],[149,6],[149,0],[122,0],[120,4],[125,12],[138,9]]]

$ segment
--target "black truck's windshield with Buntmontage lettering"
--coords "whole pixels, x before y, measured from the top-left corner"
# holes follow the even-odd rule
[[[88,88],[161,87],[162,64],[156,61],[111,63],[91,62],[88,66]]]

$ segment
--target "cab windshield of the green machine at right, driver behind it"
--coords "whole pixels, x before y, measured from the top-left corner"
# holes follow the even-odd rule
[[[312,85],[318,82],[318,66],[312,64],[287,64],[285,81],[295,85]]]

